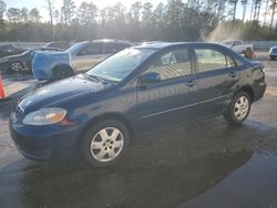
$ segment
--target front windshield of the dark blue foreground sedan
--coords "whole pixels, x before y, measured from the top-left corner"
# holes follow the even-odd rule
[[[125,49],[92,67],[89,75],[120,82],[154,53],[153,49]]]

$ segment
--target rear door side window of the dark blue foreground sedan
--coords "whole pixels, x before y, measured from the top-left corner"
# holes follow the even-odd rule
[[[198,72],[208,72],[236,66],[236,62],[219,51],[212,49],[195,49]]]

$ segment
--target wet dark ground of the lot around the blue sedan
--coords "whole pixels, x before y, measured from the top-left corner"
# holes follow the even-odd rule
[[[217,117],[160,132],[106,169],[20,156],[8,118],[38,83],[4,77],[11,100],[0,102],[0,207],[277,207],[277,61],[256,55],[268,87],[245,124]]]

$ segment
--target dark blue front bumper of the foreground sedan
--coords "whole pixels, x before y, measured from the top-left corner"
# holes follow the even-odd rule
[[[28,126],[10,119],[10,134],[18,150],[27,158],[45,160],[64,154],[74,154],[81,127]]]

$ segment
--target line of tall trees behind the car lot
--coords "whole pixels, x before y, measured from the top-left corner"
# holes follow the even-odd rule
[[[276,0],[168,0],[156,6],[136,1],[130,8],[117,2],[103,9],[85,1],[76,7],[73,0],[54,8],[53,0],[44,0],[44,6],[48,22],[37,8],[7,8],[0,0],[0,41],[201,41],[218,25],[239,29],[246,40],[277,38]]]

